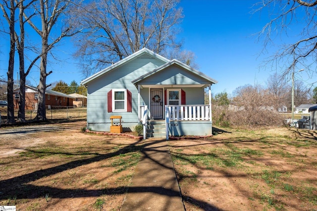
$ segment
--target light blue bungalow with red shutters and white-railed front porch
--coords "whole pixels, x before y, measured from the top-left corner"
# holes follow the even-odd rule
[[[81,82],[88,90],[87,128],[109,131],[110,117],[122,116],[123,130],[143,124],[144,138],[211,135],[211,85],[216,83],[143,48]]]

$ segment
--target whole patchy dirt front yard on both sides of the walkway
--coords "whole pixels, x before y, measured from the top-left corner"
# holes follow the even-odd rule
[[[0,205],[119,211],[143,143],[85,125],[0,128]],[[168,143],[187,211],[317,211],[316,140],[283,127]]]

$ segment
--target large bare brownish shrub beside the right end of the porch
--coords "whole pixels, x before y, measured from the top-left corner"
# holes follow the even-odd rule
[[[226,105],[214,101],[212,122],[220,127],[270,127],[283,126],[285,117],[278,113],[276,99],[260,86],[243,86]]]

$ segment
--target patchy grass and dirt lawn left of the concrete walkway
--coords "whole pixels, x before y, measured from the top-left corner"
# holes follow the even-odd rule
[[[141,148],[136,140],[82,133],[70,127],[74,124],[61,131],[1,134],[0,205],[25,211],[120,210]]]

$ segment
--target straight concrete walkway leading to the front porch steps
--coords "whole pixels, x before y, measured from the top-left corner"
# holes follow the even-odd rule
[[[184,211],[166,140],[146,139],[121,211]]]

